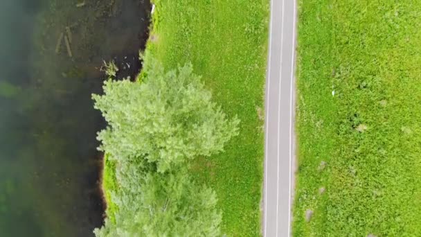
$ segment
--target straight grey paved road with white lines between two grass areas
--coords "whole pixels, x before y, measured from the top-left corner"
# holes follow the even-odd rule
[[[291,236],[296,0],[271,0],[263,235]]]

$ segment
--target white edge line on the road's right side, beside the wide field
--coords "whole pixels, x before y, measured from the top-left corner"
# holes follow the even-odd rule
[[[292,87],[294,84],[294,55],[295,55],[295,23],[296,23],[296,2],[294,0],[294,19],[292,24],[292,59],[291,59],[291,88],[289,92],[289,200],[288,200],[288,236],[291,236],[291,196],[292,196]]]

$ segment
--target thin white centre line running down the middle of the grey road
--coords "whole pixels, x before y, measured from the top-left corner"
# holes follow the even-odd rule
[[[284,17],[285,17],[285,1],[282,1],[282,19],[280,28],[280,69],[279,69],[279,93],[278,93],[278,163],[277,163],[277,177],[276,177],[276,236],[278,236],[278,211],[279,211],[279,141],[280,141],[280,89],[282,85],[282,63],[283,63],[283,48],[284,48]]]

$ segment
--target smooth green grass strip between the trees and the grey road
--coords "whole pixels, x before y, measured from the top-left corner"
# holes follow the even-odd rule
[[[192,173],[217,193],[222,233],[259,236],[269,1],[154,3],[147,49],[165,69],[191,62],[213,100],[229,117],[241,119],[240,135],[225,152],[199,157]]]

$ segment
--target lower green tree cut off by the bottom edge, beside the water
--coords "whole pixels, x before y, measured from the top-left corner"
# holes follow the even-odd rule
[[[185,172],[143,173],[132,164],[120,170],[125,180],[116,222],[106,220],[96,236],[219,236],[220,213],[211,188],[197,186]]]

